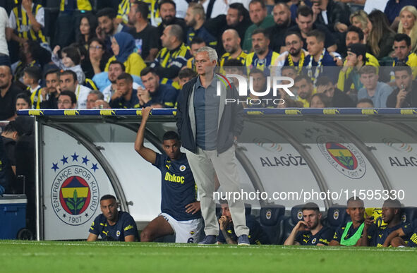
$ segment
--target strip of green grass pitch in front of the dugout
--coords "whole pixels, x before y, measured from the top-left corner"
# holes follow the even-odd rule
[[[417,249],[0,241],[0,272],[417,272]]]

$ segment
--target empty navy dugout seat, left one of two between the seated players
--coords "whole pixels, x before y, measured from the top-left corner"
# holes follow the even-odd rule
[[[260,209],[260,225],[273,245],[282,243],[284,234],[284,221],[282,219],[284,214],[285,207],[283,205],[268,205]]]

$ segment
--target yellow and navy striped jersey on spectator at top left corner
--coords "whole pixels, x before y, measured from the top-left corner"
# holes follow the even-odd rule
[[[41,5],[32,5],[32,14],[36,16],[36,13],[42,8]],[[25,40],[32,40],[39,43],[47,42],[45,36],[42,33],[42,29],[35,32],[30,26],[30,20],[28,13],[23,10],[23,6],[16,6],[13,8],[13,13],[16,18],[16,26],[18,30],[18,36]]]

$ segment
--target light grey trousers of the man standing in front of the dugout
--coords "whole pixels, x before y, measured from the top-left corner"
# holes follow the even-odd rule
[[[186,150],[188,163],[193,171],[195,183],[200,195],[201,212],[205,222],[205,235],[219,235],[219,223],[216,218],[216,203],[213,200],[214,179],[217,174],[224,192],[240,191],[236,165],[235,147],[217,155],[216,150],[206,151],[198,147],[196,153]],[[236,236],[248,235],[245,205],[243,200],[227,200]]]

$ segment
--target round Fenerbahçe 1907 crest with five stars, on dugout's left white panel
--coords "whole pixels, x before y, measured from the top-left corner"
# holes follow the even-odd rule
[[[56,174],[51,188],[51,202],[56,216],[71,226],[79,226],[94,216],[99,206],[99,186],[94,173],[97,163],[74,152],[52,162]]]

